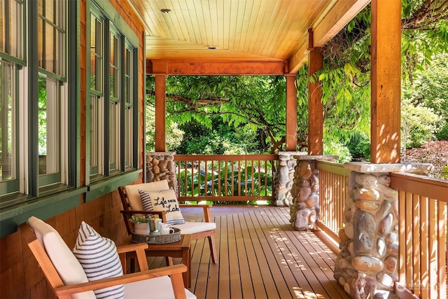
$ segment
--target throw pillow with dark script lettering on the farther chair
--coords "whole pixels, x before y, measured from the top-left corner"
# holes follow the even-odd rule
[[[146,211],[167,211],[169,225],[183,224],[183,216],[174,190],[144,191],[139,190],[141,202]]]

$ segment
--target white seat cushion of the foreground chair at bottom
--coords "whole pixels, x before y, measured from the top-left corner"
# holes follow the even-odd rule
[[[196,296],[185,290],[187,299],[196,299]],[[125,299],[173,299],[174,292],[171,279],[167,276],[136,281],[125,284]]]

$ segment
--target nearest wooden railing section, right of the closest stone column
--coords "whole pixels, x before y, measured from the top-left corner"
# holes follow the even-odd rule
[[[448,298],[447,181],[391,174],[391,187],[399,191],[400,284],[395,292],[407,288],[422,299]]]

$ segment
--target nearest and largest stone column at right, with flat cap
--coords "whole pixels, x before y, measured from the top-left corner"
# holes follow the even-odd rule
[[[351,298],[389,298],[398,281],[398,191],[391,172],[428,171],[428,164],[346,163],[344,228],[335,279]]]

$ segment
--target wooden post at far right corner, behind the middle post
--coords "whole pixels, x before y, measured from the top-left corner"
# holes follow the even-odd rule
[[[286,151],[297,151],[297,75],[286,76]]]

